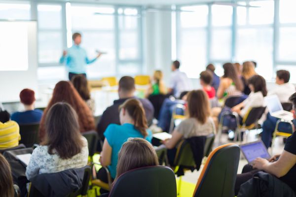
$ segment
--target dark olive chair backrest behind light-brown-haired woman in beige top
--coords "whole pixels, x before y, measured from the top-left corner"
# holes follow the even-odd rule
[[[174,166],[180,165],[195,167],[192,149],[190,147],[190,143],[187,140],[182,140],[177,147]]]

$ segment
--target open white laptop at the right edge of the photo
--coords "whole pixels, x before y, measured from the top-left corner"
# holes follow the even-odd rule
[[[283,110],[280,99],[276,95],[268,96],[264,99],[271,116],[284,120],[293,120],[293,113]]]

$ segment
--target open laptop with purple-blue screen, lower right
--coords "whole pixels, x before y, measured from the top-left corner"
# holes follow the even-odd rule
[[[249,164],[252,164],[253,161],[258,157],[264,158],[267,160],[271,158],[265,145],[261,140],[246,143],[246,144],[241,144],[240,149]]]

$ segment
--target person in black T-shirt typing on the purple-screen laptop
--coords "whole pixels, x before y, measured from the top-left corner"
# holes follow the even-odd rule
[[[295,110],[296,93],[291,96],[290,100],[293,102]],[[294,119],[295,118],[296,115],[294,113]],[[243,171],[245,173],[237,175],[235,194],[238,193],[240,186],[251,179],[259,170],[276,176],[296,192],[296,132],[287,139],[287,143],[281,155],[276,155],[269,160],[257,158],[253,162],[253,167],[244,167]]]

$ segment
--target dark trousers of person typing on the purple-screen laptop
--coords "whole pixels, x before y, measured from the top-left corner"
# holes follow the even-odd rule
[[[254,174],[256,174],[259,171],[260,170],[258,169],[253,169],[252,165],[247,164],[244,166],[242,173],[236,176],[235,187],[234,187],[235,196],[237,196],[240,186],[245,182],[247,182],[248,180],[250,180],[251,178],[253,178]]]

